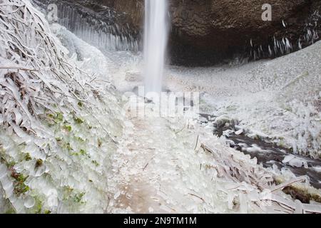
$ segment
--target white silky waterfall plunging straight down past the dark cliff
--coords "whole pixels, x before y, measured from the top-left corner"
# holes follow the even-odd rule
[[[145,0],[145,90],[161,93],[168,40],[167,0]]]

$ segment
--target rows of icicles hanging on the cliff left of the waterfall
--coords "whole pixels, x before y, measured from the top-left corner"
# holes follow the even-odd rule
[[[138,51],[139,43],[126,28],[116,24],[118,15],[112,9],[103,7],[96,15],[77,4],[68,1],[35,1],[46,9],[50,3],[58,7],[58,22],[87,43],[102,51]],[[100,6],[101,7],[101,6]],[[97,18],[98,16],[98,18]]]

